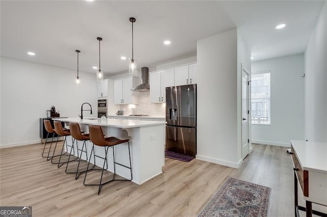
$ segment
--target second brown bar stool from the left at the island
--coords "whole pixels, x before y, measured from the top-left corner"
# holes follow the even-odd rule
[[[61,122],[60,121],[54,121],[54,125],[55,125],[55,132],[60,136],[60,137],[65,137],[64,141],[63,141],[63,146],[62,146],[62,149],[61,149],[61,153],[58,155],[59,156],[59,161],[58,162],[53,162],[53,157],[54,157],[54,154],[55,154],[55,151],[56,151],[56,147],[57,147],[57,144],[58,144],[58,139],[59,137],[57,138],[57,142],[56,142],[56,145],[55,145],[55,150],[53,151],[53,155],[52,155],[52,159],[51,159],[51,162],[52,164],[58,164],[58,168],[61,167],[62,165],[66,164],[68,161],[74,161],[76,160],[78,157],[76,157],[75,159],[73,160],[68,160],[68,161],[64,161],[64,162],[61,162],[60,164],[60,161],[61,161],[61,156],[63,155],[66,155],[67,152],[63,153],[63,149],[64,149],[64,146],[66,144],[66,150],[68,151],[68,147],[71,147],[71,152],[69,153],[69,157],[72,153],[72,149],[73,149],[73,155],[75,155],[75,150],[74,150],[74,140],[72,138],[72,146],[69,146],[67,145],[67,136],[68,135],[71,135],[71,131],[69,130],[63,130],[62,126],[61,126]],[[78,150],[77,150],[77,156],[78,156]]]

